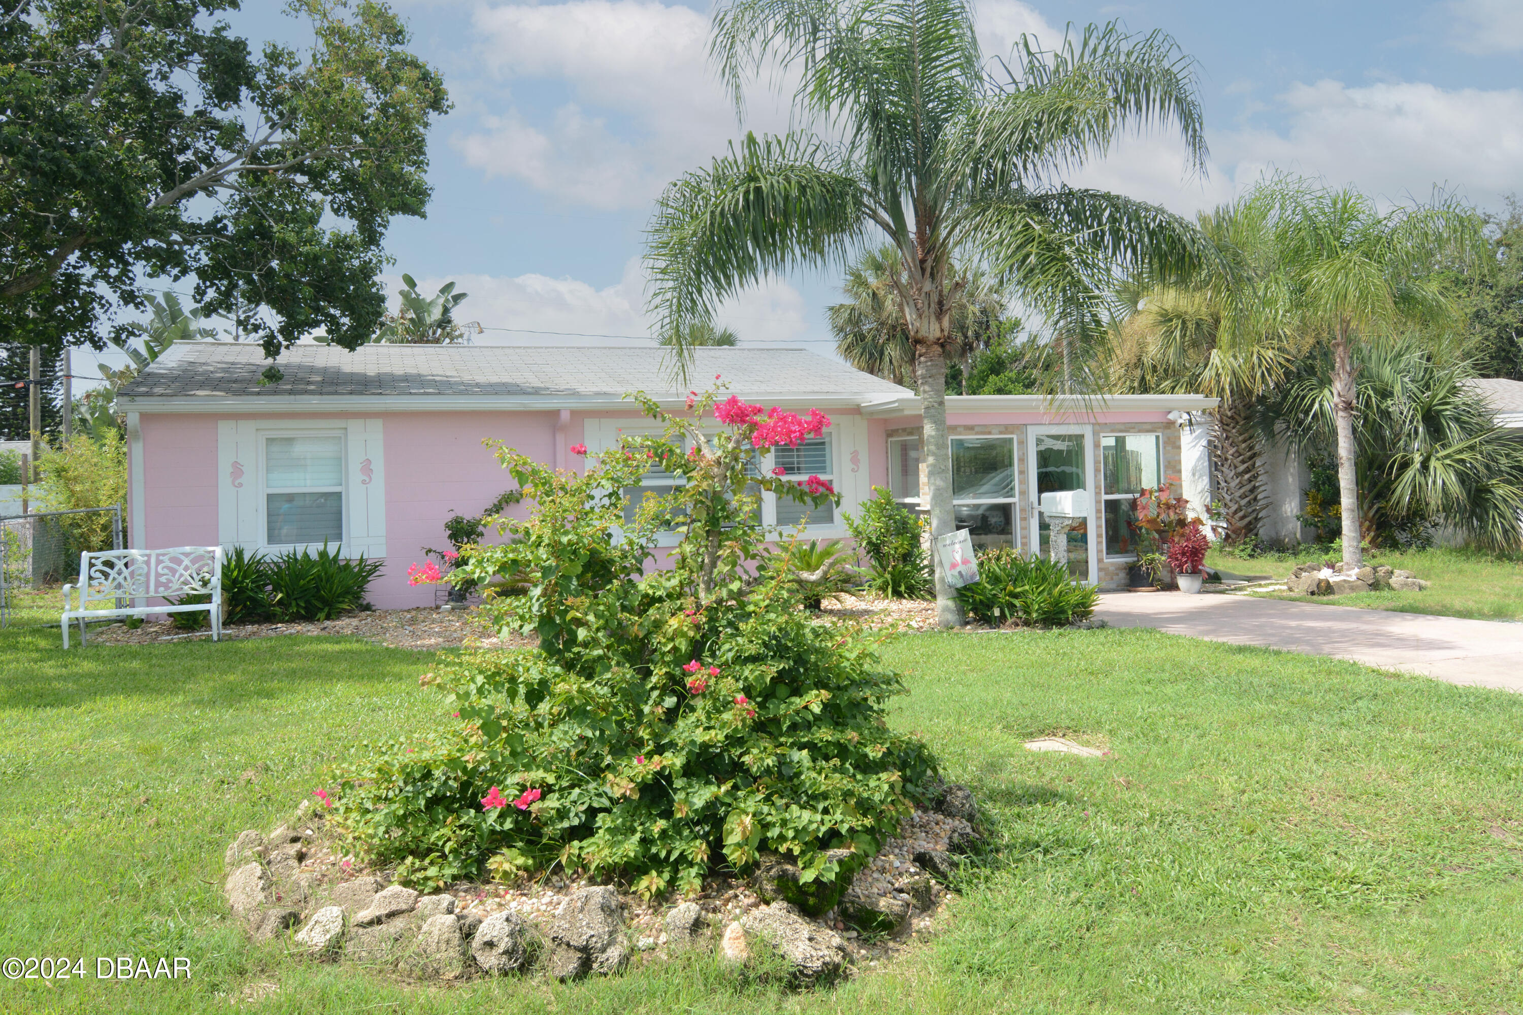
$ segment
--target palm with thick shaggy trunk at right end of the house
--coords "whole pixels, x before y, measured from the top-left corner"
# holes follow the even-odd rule
[[[1258,533],[1267,495],[1255,408],[1295,371],[1308,342],[1276,306],[1281,286],[1263,207],[1246,199],[1220,205],[1197,225],[1215,257],[1191,285],[1118,289],[1110,388],[1220,399],[1211,412],[1212,478],[1228,539],[1241,540]]]

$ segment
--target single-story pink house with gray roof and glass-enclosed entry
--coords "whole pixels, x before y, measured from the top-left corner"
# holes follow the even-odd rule
[[[385,560],[370,587],[378,607],[433,604],[431,587],[407,584],[408,565],[423,546],[446,545],[446,517],[478,514],[512,485],[483,438],[579,469],[574,444],[597,453],[620,434],[656,429],[626,393],[684,405],[663,356],[655,347],[299,345],[280,361],[285,379],[260,387],[257,347],[175,344],[117,402],[128,420],[131,545],[282,552],[326,540]],[[749,402],[832,418],[822,438],[774,450],[766,467],[832,479],[841,507],[806,519],[768,495],[769,525],[807,522],[810,537],[844,537],[842,514],[874,485],[918,505],[914,393],[793,348],[696,350],[698,383],[716,374]],[[1062,409],[1039,396],[949,397],[958,525],[979,546],[1048,555],[1040,495],[1086,490],[1087,514],[1066,528],[1069,566],[1080,580],[1118,583],[1135,560],[1129,495],[1179,475],[1174,420],[1212,405],[1110,396]],[[661,493],[670,479],[652,473],[644,485]]]

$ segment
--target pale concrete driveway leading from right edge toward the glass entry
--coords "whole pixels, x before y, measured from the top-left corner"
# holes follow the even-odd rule
[[[1523,691],[1523,624],[1179,592],[1107,592],[1095,616],[1112,627],[1156,627]]]

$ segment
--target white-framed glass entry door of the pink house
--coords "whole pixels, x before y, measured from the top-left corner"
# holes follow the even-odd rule
[[[1095,551],[1095,466],[1090,426],[1027,428],[1027,490],[1030,492],[1031,543],[1043,560],[1062,560],[1068,551],[1068,572],[1078,581],[1100,581]],[[1049,519],[1042,511],[1042,495],[1060,490],[1089,493],[1087,514]],[[1054,554],[1054,539],[1060,540]]]

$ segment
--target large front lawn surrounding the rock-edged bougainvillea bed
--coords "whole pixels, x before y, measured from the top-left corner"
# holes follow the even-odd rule
[[[443,717],[429,656],[344,639],[0,635],[0,956],[184,956],[190,982],[0,982],[0,1010],[1523,1009],[1523,697],[1148,630],[886,648],[998,849],[944,933],[833,992],[710,962],[416,988],[247,945],[221,857],[367,738]],[[1106,759],[1037,755],[1062,733]],[[247,775],[245,775],[247,773]]]

